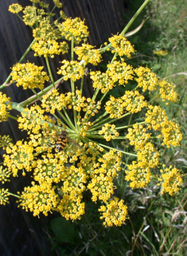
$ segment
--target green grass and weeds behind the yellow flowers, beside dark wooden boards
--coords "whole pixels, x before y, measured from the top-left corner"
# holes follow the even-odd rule
[[[129,18],[141,6],[142,0],[131,1]],[[169,109],[169,117],[181,125],[183,140],[180,148],[161,148],[163,163],[181,169],[184,183],[178,195],[160,195],[158,188],[146,187],[131,191],[119,177],[117,191],[128,205],[131,216],[120,227],[104,228],[99,223],[95,203],[89,203],[86,215],[75,223],[62,218],[53,219],[49,228],[52,255],[177,255],[187,250],[187,6],[185,0],[150,0],[146,10],[134,22],[150,17],[142,30],[128,38],[137,50],[133,65],[148,65],[159,77],[176,85],[179,101]],[[165,57],[154,50],[167,50]],[[162,100],[158,100],[161,107]],[[119,145],[120,147],[121,145]],[[167,157],[166,157],[167,156]],[[98,206],[97,206],[98,207]]]

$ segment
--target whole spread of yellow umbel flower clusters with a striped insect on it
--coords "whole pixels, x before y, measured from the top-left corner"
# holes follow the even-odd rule
[[[130,58],[134,53],[134,47],[123,33],[110,37],[107,46],[95,49],[85,44],[88,27],[80,18],[67,18],[61,12],[64,22],[56,19],[52,23],[53,14],[43,9],[45,2],[31,2],[33,6],[25,8],[14,4],[10,11],[18,14],[22,10],[23,22],[33,29],[30,48],[34,56],[45,57],[47,72],[43,66],[18,63],[12,68],[12,82],[32,89],[35,95],[11,107],[10,98],[0,93],[0,120],[7,120],[14,108],[21,112],[14,118],[18,128],[27,132],[27,138],[15,144],[8,137],[0,137],[0,147],[5,150],[0,180],[6,183],[10,175],[29,171],[31,185],[16,196],[18,206],[34,216],[57,211],[67,220],[80,219],[85,211],[84,195],[89,191],[92,201],[100,204],[103,224],[121,226],[127,219],[127,206],[116,189],[120,176],[124,175],[124,182],[133,189],[146,187],[153,177],[162,186],[162,193],[174,195],[180,189],[182,179],[176,167],[163,167],[158,173],[158,145],[179,146],[180,127],[169,120],[165,109],[154,101],[147,102],[147,95],[154,92],[167,107],[168,102],[177,100],[177,93],[172,84],[160,80],[149,68],[134,68],[124,61],[123,57]],[[53,2],[62,7],[59,0]],[[48,57],[67,53],[67,40],[71,41],[72,58],[61,61],[56,73],[71,89],[60,93],[56,88],[60,82],[53,79]],[[114,57],[105,65],[106,70],[94,67],[87,72],[90,65],[101,62],[108,49]],[[49,77],[52,85],[46,85]],[[84,92],[88,79],[92,81],[92,96]],[[127,141],[128,147],[119,148],[116,140]],[[0,190],[0,203],[7,203],[10,194]]]

